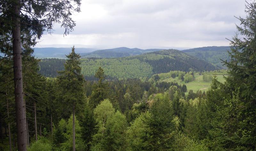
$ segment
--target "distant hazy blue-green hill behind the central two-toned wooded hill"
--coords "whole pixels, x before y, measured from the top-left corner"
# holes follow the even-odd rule
[[[139,49],[139,48],[113,48],[113,49],[104,49],[104,50],[96,50],[94,52],[89,53],[80,53],[80,56],[83,58],[119,58],[119,57],[128,57],[134,55],[140,55],[148,52],[161,51],[163,49]]]

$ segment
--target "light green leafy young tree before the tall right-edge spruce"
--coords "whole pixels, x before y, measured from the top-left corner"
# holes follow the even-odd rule
[[[250,138],[251,134],[241,128],[241,125],[245,124],[242,120],[245,104],[240,100],[239,89],[233,92],[232,97],[225,99],[223,106],[217,107],[212,121],[214,128],[210,131],[211,136],[215,138],[211,144],[213,150],[247,150],[243,147],[243,140]]]

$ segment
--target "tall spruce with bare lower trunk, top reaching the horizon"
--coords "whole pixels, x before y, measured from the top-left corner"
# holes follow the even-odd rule
[[[59,72],[60,76],[58,76],[57,84],[62,103],[69,109],[72,108],[73,151],[75,151],[75,110],[77,110],[76,107],[82,106],[84,103],[84,77],[81,75],[81,67],[79,66],[80,55],[75,53],[74,46],[67,58],[64,64],[65,70]]]

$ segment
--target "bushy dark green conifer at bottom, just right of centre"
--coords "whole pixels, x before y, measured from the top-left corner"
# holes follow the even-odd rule
[[[172,123],[173,115],[168,97],[158,94],[148,112],[149,115],[142,120],[147,130],[144,131],[146,135],[142,137],[144,150],[169,149],[168,133],[174,130],[174,123]]]

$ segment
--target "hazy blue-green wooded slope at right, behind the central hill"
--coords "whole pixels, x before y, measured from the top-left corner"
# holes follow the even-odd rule
[[[228,60],[230,57],[228,56],[228,50],[230,50],[229,46],[210,46],[210,47],[200,47],[183,50],[191,56],[195,56],[196,58],[211,62],[219,68],[225,68],[222,66],[221,60]],[[221,59],[221,60],[220,60]]]

